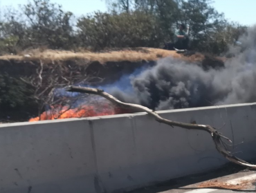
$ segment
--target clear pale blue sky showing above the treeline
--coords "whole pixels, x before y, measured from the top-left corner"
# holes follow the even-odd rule
[[[0,0],[0,5],[17,7],[18,4],[26,2],[28,0]],[[107,10],[104,0],[51,0],[51,2],[62,4],[64,10],[70,10],[77,16],[95,10]],[[232,21],[248,26],[256,24],[256,0],[215,0],[212,6]]]

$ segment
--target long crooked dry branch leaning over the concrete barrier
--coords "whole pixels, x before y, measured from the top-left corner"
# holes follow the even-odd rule
[[[246,167],[250,167],[251,169],[256,169],[256,165],[250,164],[242,159],[239,159],[238,157],[233,156],[230,152],[228,152],[226,150],[226,147],[223,145],[222,139],[226,139],[230,142],[232,141],[228,139],[226,136],[221,135],[215,128],[213,128],[210,125],[182,123],[177,121],[171,121],[168,119],[163,119],[159,114],[154,112],[154,110],[146,108],[143,105],[136,105],[133,103],[124,103],[116,99],[111,94],[108,94],[107,92],[104,92],[104,90],[100,90],[100,89],[69,86],[68,88],[66,88],[66,90],[68,92],[80,92],[80,93],[96,94],[96,95],[102,96],[105,99],[111,101],[112,103],[122,106],[123,108],[131,108],[133,110],[138,110],[140,112],[147,112],[147,114],[153,116],[154,119],[159,123],[164,123],[166,125],[170,125],[171,127],[176,126],[176,127],[185,128],[188,130],[202,130],[202,131],[208,132],[212,136],[212,140],[214,141],[215,147],[217,148],[218,152],[222,154],[226,159],[238,165],[243,165]]]

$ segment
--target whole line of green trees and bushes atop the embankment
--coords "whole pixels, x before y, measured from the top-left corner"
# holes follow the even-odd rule
[[[50,0],[33,0],[5,10],[0,51],[28,48],[92,51],[106,48],[161,48],[179,23],[190,25],[193,50],[221,54],[246,26],[227,21],[209,0],[109,0],[109,12],[75,18]]]

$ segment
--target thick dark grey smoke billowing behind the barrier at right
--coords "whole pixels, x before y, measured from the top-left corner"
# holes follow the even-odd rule
[[[130,77],[127,91],[108,91],[125,102],[154,110],[256,101],[256,28],[239,39],[242,48],[230,47],[235,57],[221,70],[203,70],[199,65],[165,58],[157,65]]]

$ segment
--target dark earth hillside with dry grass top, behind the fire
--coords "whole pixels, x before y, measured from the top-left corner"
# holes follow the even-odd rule
[[[221,68],[224,61],[200,53],[186,55],[154,48],[109,52],[30,50],[4,55],[0,57],[0,120],[26,121],[36,116],[38,105],[42,105],[54,88],[81,80],[95,85],[114,83],[124,74],[156,65],[164,57],[196,63],[205,70]],[[6,120],[6,117],[10,118]]]

